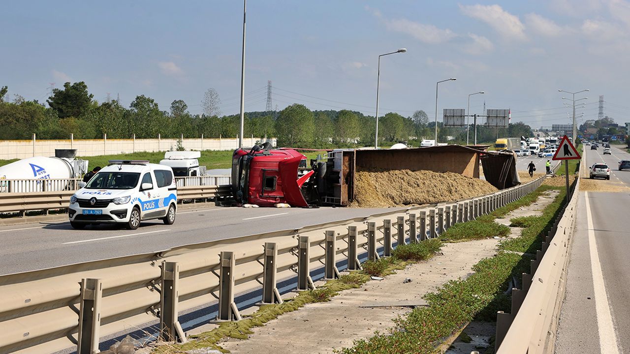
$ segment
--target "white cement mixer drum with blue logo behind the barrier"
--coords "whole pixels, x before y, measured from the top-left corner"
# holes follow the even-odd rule
[[[75,159],[76,150],[57,149],[55,157],[28,157],[0,167],[0,193],[60,191],[88,171],[88,161]]]

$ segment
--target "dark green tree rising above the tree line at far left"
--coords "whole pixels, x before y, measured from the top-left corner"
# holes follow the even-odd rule
[[[47,102],[50,108],[57,111],[59,118],[80,117],[88,110],[93,97],[93,94],[88,93],[88,86],[80,81],[65,83],[64,89],[52,90],[52,96]]]

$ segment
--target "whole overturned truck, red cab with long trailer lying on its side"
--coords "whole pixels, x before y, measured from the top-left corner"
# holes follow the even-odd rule
[[[339,149],[326,151],[325,161],[319,157],[307,161],[296,149],[271,149],[263,144],[237,149],[232,154],[232,194],[238,204],[345,206],[355,198],[357,171],[428,170],[479,178],[480,161],[486,174],[491,172],[492,178],[486,179],[496,188],[520,183],[513,154],[486,156],[490,154],[479,147],[451,145],[396,150]]]

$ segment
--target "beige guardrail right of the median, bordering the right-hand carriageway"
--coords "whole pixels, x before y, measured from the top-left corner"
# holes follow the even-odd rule
[[[542,250],[523,274],[522,289],[512,289],[512,310],[498,312],[495,352],[497,354],[553,353],[554,326],[564,298],[569,244],[577,208],[580,177],[573,184],[569,203],[564,207],[542,243]]]

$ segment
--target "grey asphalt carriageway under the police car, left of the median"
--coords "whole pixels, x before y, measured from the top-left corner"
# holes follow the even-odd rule
[[[142,222],[137,230],[115,225],[74,230],[69,222],[0,227],[0,275],[161,251],[184,244],[246,236],[394,210],[369,208],[209,207],[178,212],[175,224]]]

